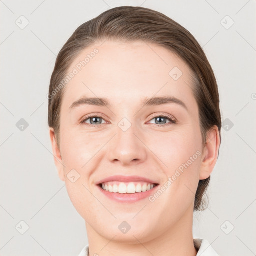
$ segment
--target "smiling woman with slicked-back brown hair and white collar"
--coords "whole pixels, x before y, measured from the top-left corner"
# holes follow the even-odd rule
[[[218,158],[218,88],[184,27],[103,12],[60,50],[48,98],[58,175],[86,224],[79,256],[217,255],[192,222]]]

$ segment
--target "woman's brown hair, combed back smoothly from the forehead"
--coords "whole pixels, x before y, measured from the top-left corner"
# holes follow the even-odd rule
[[[193,73],[192,90],[199,108],[203,146],[206,145],[206,132],[213,125],[218,127],[221,142],[217,82],[199,43],[183,26],[160,12],[143,7],[121,6],[107,10],[80,25],[66,41],[56,58],[48,94],[48,125],[55,130],[58,147],[60,106],[64,93],[63,89],[59,90],[59,84],[67,75],[73,60],[84,48],[106,39],[123,42],[143,40],[160,45],[183,59]],[[202,197],[209,180],[210,177],[199,180],[194,210],[203,209]]]

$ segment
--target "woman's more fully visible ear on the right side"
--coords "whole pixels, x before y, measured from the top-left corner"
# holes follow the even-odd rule
[[[207,132],[206,145],[203,150],[202,163],[199,179],[206,179],[210,176],[218,158],[220,137],[218,127],[214,125]]]

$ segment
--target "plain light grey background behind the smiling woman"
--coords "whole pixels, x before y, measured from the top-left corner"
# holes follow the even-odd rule
[[[203,46],[223,128],[209,206],[194,216],[194,237],[220,255],[255,255],[255,0],[0,1],[0,255],[78,255],[87,244],[54,165],[46,94],[56,55],[78,25],[121,5],[160,11]],[[29,124],[23,130],[21,118]]]

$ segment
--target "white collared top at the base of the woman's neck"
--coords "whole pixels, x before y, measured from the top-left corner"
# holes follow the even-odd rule
[[[194,246],[198,249],[196,256],[219,256],[207,240],[194,239]],[[87,244],[78,256],[89,256],[89,245]]]

